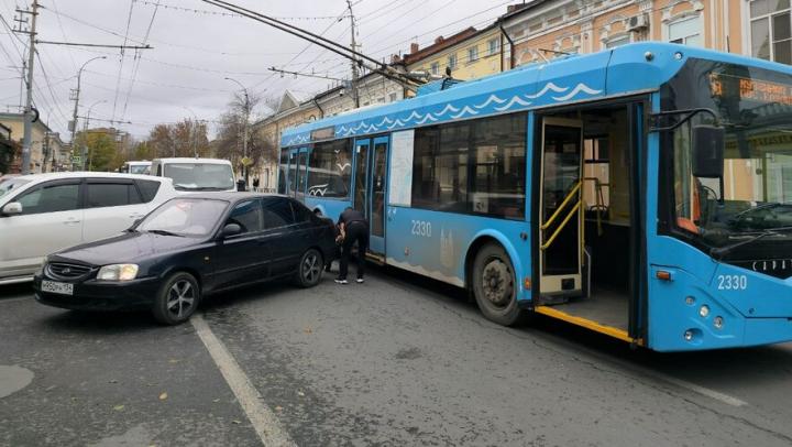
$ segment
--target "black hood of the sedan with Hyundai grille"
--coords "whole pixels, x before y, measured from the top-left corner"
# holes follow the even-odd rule
[[[65,258],[91,265],[108,265],[134,262],[197,243],[198,239],[189,237],[125,232],[58,251],[51,259]]]

